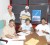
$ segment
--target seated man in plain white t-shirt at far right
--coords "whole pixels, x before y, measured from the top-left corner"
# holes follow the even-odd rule
[[[39,36],[45,36],[47,42],[50,42],[50,29],[49,26],[46,24],[46,19],[42,18],[41,24],[36,26],[36,33]]]

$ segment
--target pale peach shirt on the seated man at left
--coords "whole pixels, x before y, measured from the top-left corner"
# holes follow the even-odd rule
[[[5,35],[9,34],[11,36],[14,36],[15,33],[15,28],[14,27],[10,27],[10,26],[6,26],[3,29],[3,38],[5,38]]]

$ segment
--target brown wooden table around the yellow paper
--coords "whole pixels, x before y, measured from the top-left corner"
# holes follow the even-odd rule
[[[47,44],[45,37],[38,36],[36,33],[33,33],[33,34],[26,36],[25,45],[28,45],[26,44],[26,42],[29,41],[31,38],[39,40],[39,42],[36,45],[46,45]]]

